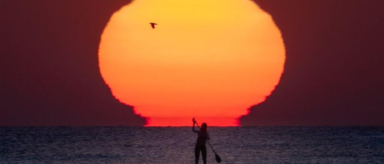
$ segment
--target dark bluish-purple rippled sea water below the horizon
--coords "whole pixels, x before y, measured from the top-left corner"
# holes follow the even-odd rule
[[[384,126],[210,127],[209,133],[223,164],[384,163]],[[192,164],[196,138],[191,127],[0,127],[0,163]],[[216,163],[208,144],[207,152],[208,163]]]

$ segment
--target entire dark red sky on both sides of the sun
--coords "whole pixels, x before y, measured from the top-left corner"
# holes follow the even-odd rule
[[[2,0],[0,125],[144,125],[98,70],[101,32],[127,0]],[[384,125],[384,1],[257,0],[285,72],[242,125]]]

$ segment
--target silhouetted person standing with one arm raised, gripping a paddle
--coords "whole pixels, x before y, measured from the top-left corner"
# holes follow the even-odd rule
[[[200,130],[195,130],[195,123],[196,123],[195,118],[193,118],[192,121],[193,121],[192,131],[197,133],[197,141],[195,146],[195,164],[199,163],[200,151],[203,157],[203,162],[204,164],[206,164],[207,148],[205,148],[205,142],[207,141],[207,139],[210,139],[207,132],[208,131],[207,123],[202,123]]]

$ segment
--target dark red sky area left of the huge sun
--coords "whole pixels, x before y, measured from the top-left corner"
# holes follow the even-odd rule
[[[126,1],[2,0],[0,125],[144,125],[98,68],[100,35]]]

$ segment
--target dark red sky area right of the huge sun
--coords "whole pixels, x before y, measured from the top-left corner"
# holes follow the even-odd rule
[[[257,1],[286,47],[285,72],[242,125],[384,125],[384,1]]]

